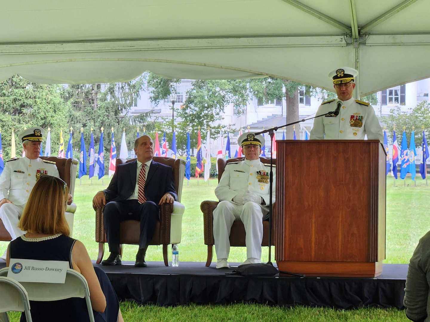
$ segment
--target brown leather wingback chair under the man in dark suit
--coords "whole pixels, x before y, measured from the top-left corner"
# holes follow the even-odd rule
[[[117,165],[125,162],[136,160],[125,160],[117,158]],[[169,266],[167,259],[167,245],[178,244],[181,242],[182,232],[182,215],[184,214],[185,207],[181,204],[182,184],[184,182],[185,173],[185,160],[154,157],[154,161],[166,164],[172,167],[173,179],[175,180],[176,192],[178,194],[178,201],[172,204],[163,204],[160,209],[160,220],[157,221],[155,226],[154,236],[152,237],[149,245],[163,245],[163,258],[164,264]],[[95,241],[98,243],[98,258],[96,263],[99,264],[104,255],[104,243],[107,243],[106,233],[103,225],[103,211],[101,208],[94,208],[95,210]],[[120,226],[120,252],[122,255],[123,244],[138,244],[140,236],[140,222],[138,220],[125,220],[121,222]]]

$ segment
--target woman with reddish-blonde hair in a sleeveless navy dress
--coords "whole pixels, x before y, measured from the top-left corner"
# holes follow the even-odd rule
[[[10,258],[68,261],[88,282],[95,321],[123,322],[118,298],[106,274],[92,265],[85,246],[69,237],[64,211],[68,199],[66,182],[53,176],[40,176],[28,198],[18,227],[26,234],[10,242]],[[30,301],[31,318],[36,321],[89,321],[84,298],[60,301]],[[21,321],[26,321],[25,314]]]

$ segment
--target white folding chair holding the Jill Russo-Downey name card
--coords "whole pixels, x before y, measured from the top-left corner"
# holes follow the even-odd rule
[[[0,270],[0,276],[7,275],[8,267]],[[76,270],[67,269],[66,281],[59,283],[21,282],[30,301],[58,301],[66,298],[85,298],[89,320],[94,322],[89,288],[85,277]],[[28,321],[28,320],[27,320]]]

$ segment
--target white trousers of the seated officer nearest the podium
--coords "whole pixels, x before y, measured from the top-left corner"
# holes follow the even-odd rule
[[[245,226],[245,244],[247,258],[261,259],[261,242],[263,240],[263,216],[267,210],[255,202],[244,205],[230,201],[220,201],[213,211],[213,233],[216,257],[228,258],[230,253],[230,230],[235,220]]]

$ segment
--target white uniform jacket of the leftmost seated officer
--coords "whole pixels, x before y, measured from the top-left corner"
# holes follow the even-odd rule
[[[60,177],[52,161],[41,158],[30,160],[26,157],[7,161],[0,176],[0,200],[9,199],[17,206],[26,204],[38,173]]]

